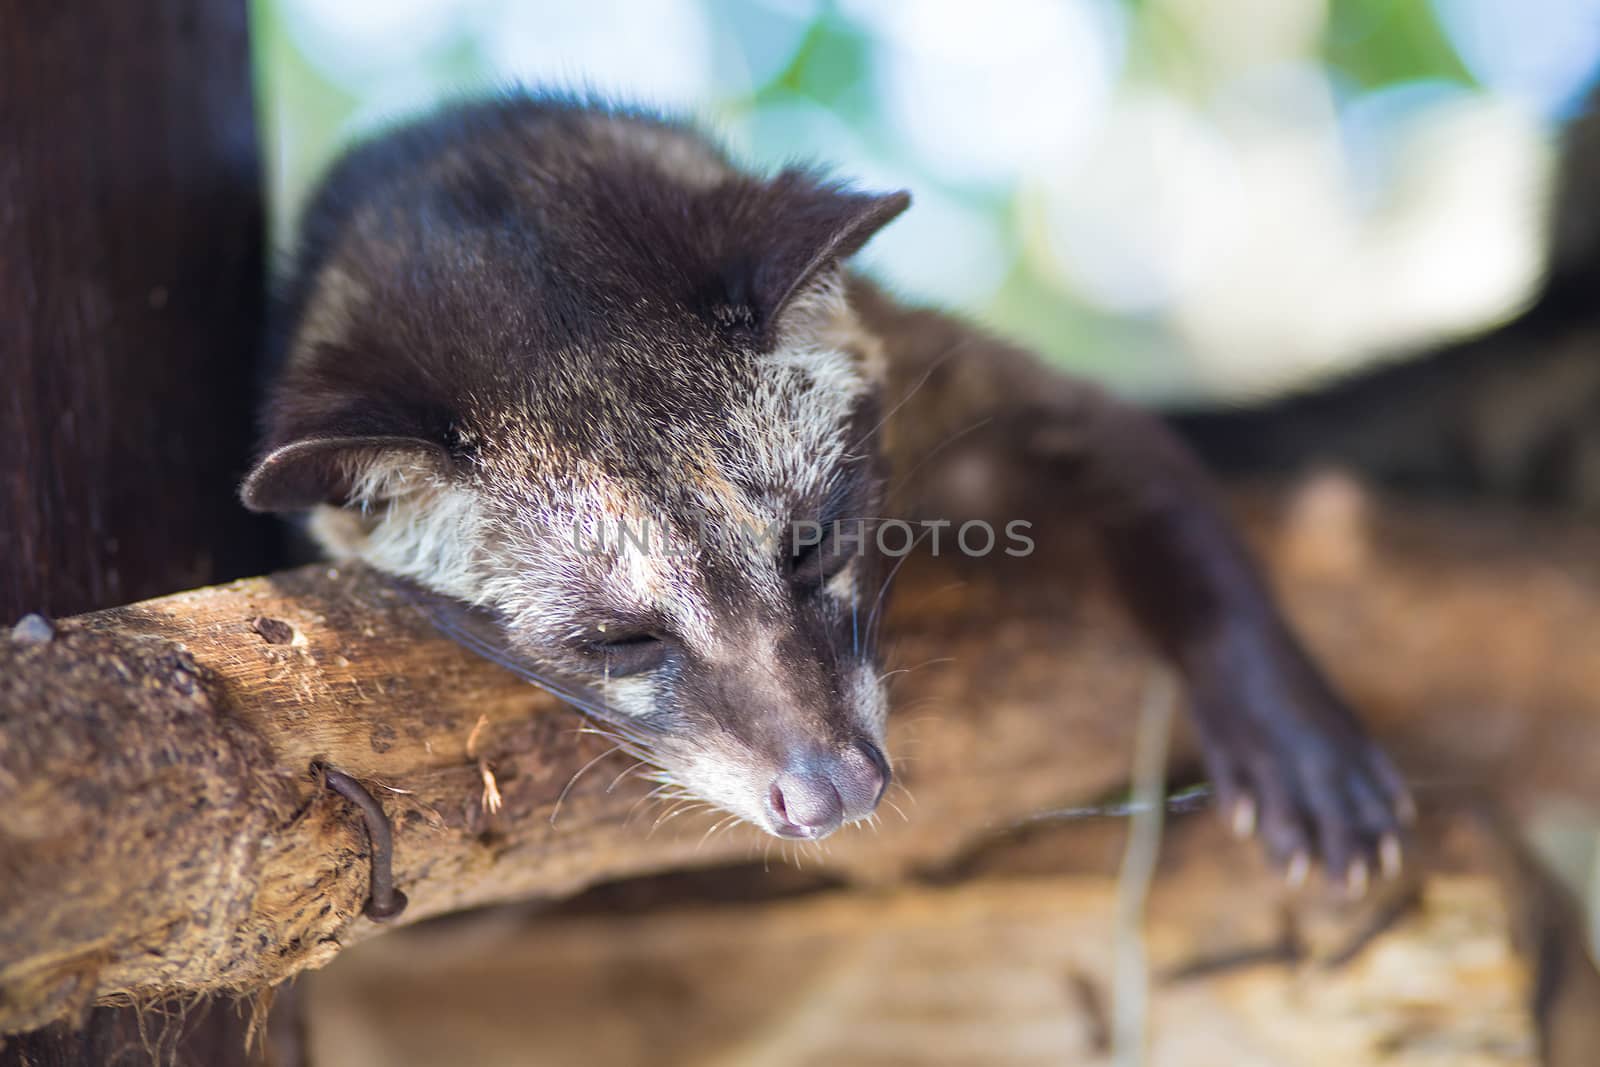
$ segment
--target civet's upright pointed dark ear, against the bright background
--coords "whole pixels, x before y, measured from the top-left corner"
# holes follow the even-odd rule
[[[861,250],[867,240],[910,206],[909,192],[862,194],[819,182],[806,171],[784,171],[763,190],[749,219],[755,248],[741,282],[763,334],[771,334],[784,309],[829,267]]]

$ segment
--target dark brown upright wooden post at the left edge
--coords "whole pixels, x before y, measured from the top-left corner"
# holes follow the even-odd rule
[[[274,563],[234,501],[264,264],[246,22],[243,0],[0,0],[3,625]],[[229,1064],[246,1022],[99,1008],[0,1062]]]

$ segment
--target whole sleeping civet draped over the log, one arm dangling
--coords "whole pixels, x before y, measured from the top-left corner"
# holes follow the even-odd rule
[[[869,630],[899,541],[874,531],[909,504],[886,490],[922,467],[917,506],[958,523],[973,502],[938,451],[987,440],[1011,502],[1056,493],[1098,536],[1187,683],[1224,811],[1291,870],[1392,865],[1403,785],[1187,451],[846,269],[909,203],[566,96],[392,130],[302,218],[243,501],[310,510],[334,557],[490,621],[502,657],[688,790],[821,838],[890,781]]]

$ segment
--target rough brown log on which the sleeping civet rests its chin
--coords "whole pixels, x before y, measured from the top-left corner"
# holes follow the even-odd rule
[[[1600,534],[1338,480],[1240,512],[1424,805],[1430,782],[1600,800]],[[886,878],[1120,785],[1152,661],[1085,561],[1064,541],[906,568],[886,648],[909,669],[890,733],[907,817],[838,835],[826,862]],[[318,763],[387,811],[400,921],[773,848],[694,814],[656,825],[630,758],[358,568],[40,637],[0,640],[0,1032],[264,990],[376,933],[366,830]]]

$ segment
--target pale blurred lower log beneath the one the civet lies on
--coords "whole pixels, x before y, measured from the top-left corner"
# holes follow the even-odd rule
[[[571,1064],[1125,1062],[1110,1049],[1130,950],[1115,869],[1062,864],[1115,862],[1120,830],[1053,829],[1027,870],[987,864],[947,885],[606,901],[403,931],[310,976],[309,1048],[392,1067],[518,1064],[534,1048]],[[1490,878],[1438,875],[1334,910],[1290,894],[1210,819],[1170,837],[1142,928],[1139,1062],[1589,1062],[1534,1057],[1534,966]]]

